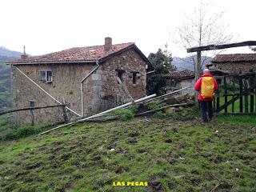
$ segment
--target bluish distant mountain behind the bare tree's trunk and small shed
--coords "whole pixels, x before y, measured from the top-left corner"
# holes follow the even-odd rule
[[[212,58],[210,57],[202,57],[202,61],[205,60],[205,64],[210,62]],[[194,61],[196,61],[196,55],[194,55]],[[194,62],[193,57],[186,57],[186,58],[178,58],[174,57],[173,61],[171,62],[172,65],[177,67],[177,70],[192,70],[194,71]]]

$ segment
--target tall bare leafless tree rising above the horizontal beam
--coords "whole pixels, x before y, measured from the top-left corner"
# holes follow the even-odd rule
[[[184,49],[193,46],[203,46],[210,44],[223,44],[228,43],[233,38],[233,35],[227,34],[226,26],[222,18],[225,12],[222,10],[214,10],[213,6],[203,4],[200,2],[199,6],[196,6],[190,14],[186,14],[185,22],[181,26],[178,26],[176,34],[174,35],[174,43],[178,46],[182,46]],[[211,57],[216,54],[216,51],[208,51],[208,55]],[[196,64],[196,57],[191,54],[191,64]],[[199,64],[200,69],[202,66],[209,62],[209,57],[206,56],[206,51],[202,54],[202,62]]]

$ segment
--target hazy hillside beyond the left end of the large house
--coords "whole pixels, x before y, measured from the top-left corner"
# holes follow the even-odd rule
[[[10,107],[12,100],[10,66],[7,66],[5,62],[20,58],[21,54],[18,51],[8,50],[0,46],[0,110]]]

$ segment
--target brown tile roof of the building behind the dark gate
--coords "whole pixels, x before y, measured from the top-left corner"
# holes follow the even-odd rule
[[[217,54],[211,62],[256,62],[256,54]]]

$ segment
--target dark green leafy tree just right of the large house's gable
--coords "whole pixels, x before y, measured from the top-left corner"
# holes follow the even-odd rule
[[[176,67],[171,65],[171,54],[167,50],[158,49],[157,53],[150,53],[148,59],[153,64],[155,71],[147,76],[147,94],[163,94],[166,82],[162,75],[176,70]]]

